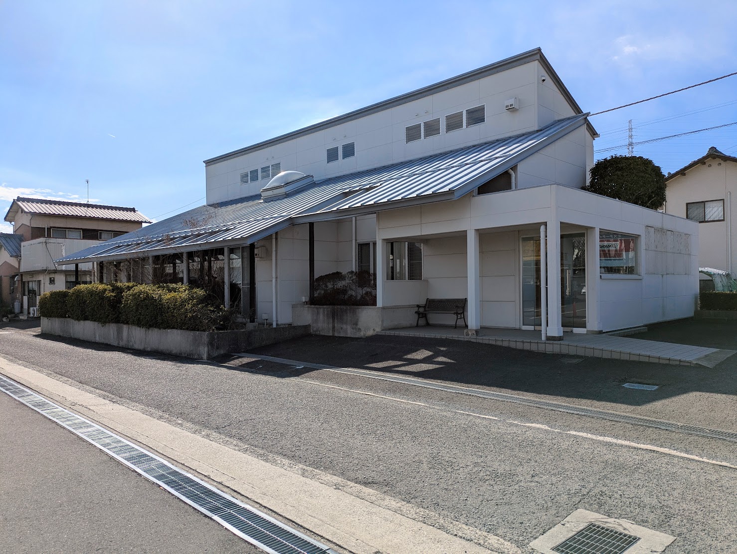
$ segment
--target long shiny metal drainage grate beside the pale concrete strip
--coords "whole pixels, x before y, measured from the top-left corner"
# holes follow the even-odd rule
[[[128,465],[237,536],[272,554],[334,554],[324,544],[0,375],[0,389]]]

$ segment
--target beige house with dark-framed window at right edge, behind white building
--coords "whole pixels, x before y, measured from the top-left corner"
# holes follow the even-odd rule
[[[737,270],[737,157],[712,146],[666,184],[666,213],[699,222],[699,267]]]

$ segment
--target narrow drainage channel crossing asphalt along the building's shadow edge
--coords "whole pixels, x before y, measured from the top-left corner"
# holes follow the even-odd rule
[[[620,423],[631,423],[632,425],[641,425],[646,427],[654,427],[655,429],[664,429],[676,433],[697,434],[701,437],[710,437],[719,440],[729,440],[737,443],[737,433],[731,431],[722,431],[721,429],[710,429],[708,427],[699,427],[696,425],[687,425],[686,423],[674,423],[672,421],[664,421],[660,419],[643,418],[640,415],[622,414],[620,412],[607,412],[603,409],[584,408],[584,406],[574,406],[573,404],[561,404],[559,402],[550,402],[547,400],[538,400],[537,398],[528,398],[526,396],[509,395],[505,392],[493,392],[491,390],[473,389],[471,387],[457,387],[455,385],[438,383],[436,381],[427,381],[413,377],[404,377],[391,373],[378,373],[368,370],[354,370],[349,367],[334,367],[322,364],[310,364],[307,361],[287,360],[284,358],[275,358],[274,356],[263,356],[261,354],[238,353],[238,356],[246,356],[259,360],[276,361],[279,364],[291,365],[294,367],[312,367],[315,370],[334,371],[335,373],[346,373],[348,375],[360,375],[370,379],[379,379],[380,381],[391,381],[393,383],[402,383],[412,385],[413,387],[423,387],[425,389],[442,390],[444,392],[456,392],[461,395],[478,396],[481,398],[490,398],[503,402],[514,402],[515,404],[524,404],[525,406],[535,406],[536,408],[553,409],[556,412],[565,412],[567,414],[585,415],[590,418],[600,418],[609,421],[618,421]],[[232,369],[230,366],[226,366]]]

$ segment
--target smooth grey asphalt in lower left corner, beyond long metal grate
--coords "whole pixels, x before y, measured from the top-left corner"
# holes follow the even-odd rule
[[[0,392],[0,553],[259,553]]]

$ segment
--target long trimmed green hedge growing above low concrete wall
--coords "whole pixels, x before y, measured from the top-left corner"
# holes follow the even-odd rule
[[[77,285],[69,291],[42,294],[39,308],[43,317],[199,331],[228,325],[232,316],[223,306],[214,305],[203,289],[171,284]]]

